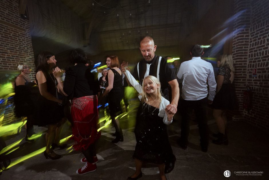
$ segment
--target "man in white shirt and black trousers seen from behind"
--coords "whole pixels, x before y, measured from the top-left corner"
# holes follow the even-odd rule
[[[207,103],[212,104],[217,84],[213,66],[211,63],[201,59],[203,53],[201,45],[196,44],[193,46],[190,52],[192,59],[181,63],[177,73],[177,77],[183,79],[181,138],[178,143],[183,149],[187,149],[189,121],[194,109],[201,137],[201,148],[203,152],[207,152],[209,133],[206,108]],[[207,90],[207,84],[209,91]]]

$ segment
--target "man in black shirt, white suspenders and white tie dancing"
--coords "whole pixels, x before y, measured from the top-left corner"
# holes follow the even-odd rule
[[[169,113],[175,114],[177,112],[177,103],[179,100],[179,85],[174,69],[167,67],[166,59],[155,55],[156,45],[154,45],[153,38],[150,36],[144,37],[140,41],[140,51],[144,57],[134,68],[133,76],[142,84],[146,76],[152,75],[157,77],[161,82],[161,92],[163,96],[169,100],[168,85],[172,88],[172,100],[167,106]],[[172,149],[167,150],[171,154],[171,158],[165,163],[165,173],[170,173],[175,165],[175,156]]]

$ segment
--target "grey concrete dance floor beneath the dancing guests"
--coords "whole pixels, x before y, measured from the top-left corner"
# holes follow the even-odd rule
[[[112,144],[114,128],[109,125],[102,129],[102,136],[97,145],[97,170],[85,175],[77,175],[76,170],[84,164],[80,162],[82,153],[71,149],[56,149],[55,152],[62,154],[58,160],[46,159],[43,152],[32,152],[45,146],[45,133],[34,142],[26,142],[24,139],[19,143],[19,148],[9,154],[14,166],[3,171],[0,179],[94,179],[94,180],[125,180],[135,171],[132,154],[136,144],[134,137],[134,125],[136,111],[135,103],[130,106],[128,115],[120,119],[123,129],[124,141]],[[125,113],[123,113],[124,115]],[[166,174],[168,180],[177,179],[227,179],[224,171],[231,171],[228,179],[268,179],[269,178],[269,143],[268,133],[245,123],[244,121],[228,121],[229,145],[215,145],[211,143],[211,134],[217,132],[217,126],[210,116],[209,110],[210,143],[208,152],[202,152],[199,146],[199,131],[197,123],[191,122],[188,151],[181,149],[176,140],[180,136],[181,116],[176,114],[173,123],[168,126],[169,140],[173,152],[177,158],[174,170]],[[100,113],[102,116],[102,112]],[[102,123],[101,123],[102,125]],[[35,126],[35,132],[44,132],[46,128]],[[25,137],[26,130],[21,133],[5,138],[7,145]],[[62,137],[71,134],[68,123],[64,126]],[[67,141],[68,147],[72,141]],[[71,151],[71,152],[70,152]],[[32,154],[29,154],[32,153]],[[33,156],[27,158],[27,156]],[[26,157],[25,157],[26,156]],[[22,158],[25,160],[17,163]],[[17,164],[16,164],[17,163]],[[238,171],[258,171],[242,174]],[[160,179],[158,168],[155,164],[144,164],[141,180]]]

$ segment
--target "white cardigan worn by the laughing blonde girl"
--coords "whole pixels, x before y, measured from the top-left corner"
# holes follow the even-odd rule
[[[126,69],[125,74],[126,74],[126,77],[129,80],[130,84],[132,84],[132,86],[137,90],[137,92],[142,93],[143,87],[134,79],[132,74],[127,69]],[[139,95],[138,97],[141,100],[142,96]],[[166,106],[168,104],[170,104],[169,101],[167,99],[165,99],[164,97],[162,97],[160,107],[159,107],[158,116],[163,117],[163,123],[166,124],[166,125],[171,124],[172,121],[173,121],[173,118],[172,118],[172,120],[170,122],[167,120],[167,114],[165,113],[165,108],[166,108]]]

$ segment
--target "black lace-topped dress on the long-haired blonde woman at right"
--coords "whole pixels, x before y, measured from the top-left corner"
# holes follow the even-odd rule
[[[217,75],[224,76],[223,84],[221,89],[214,97],[212,107],[214,109],[230,109],[234,110],[237,108],[236,95],[234,84],[231,83],[231,69],[227,66],[220,67]]]

